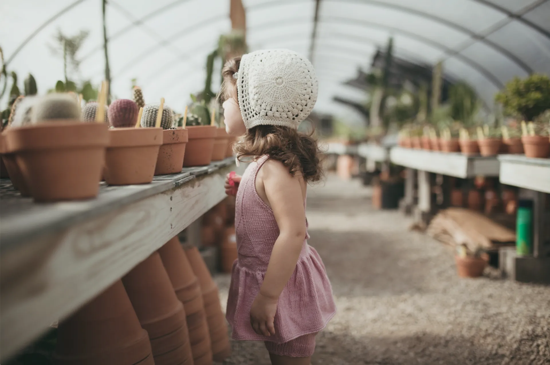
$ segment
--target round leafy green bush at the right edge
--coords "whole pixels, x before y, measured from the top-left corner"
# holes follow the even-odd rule
[[[532,74],[525,79],[514,78],[495,96],[505,113],[524,120],[533,120],[550,106],[550,79]]]

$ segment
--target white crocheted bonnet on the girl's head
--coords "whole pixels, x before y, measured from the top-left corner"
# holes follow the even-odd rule
[[[307,58],[289,49],[244,54],[237,95],[246,129],[256,125],[298,128],[317,101],[318,82]]]

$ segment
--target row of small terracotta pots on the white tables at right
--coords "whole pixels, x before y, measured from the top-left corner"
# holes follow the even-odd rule
[[[499,153],[522,154],[524,151],[527,157],[546,158],[550,156],[550,139],[541,136],[510,139],[486,138],[483,140],[411,137],[399,139],[399,146],[417,150],[462,152],[467,155],[481,154],[481,156],[494,156]]]

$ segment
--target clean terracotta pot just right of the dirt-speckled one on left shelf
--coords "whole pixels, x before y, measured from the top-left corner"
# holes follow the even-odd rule
[[[214,140],[217,128],[213,125],[195,125],[186,127],[189,132],[187,153],[183,159],[183,167],[206,166],[212,161]]]

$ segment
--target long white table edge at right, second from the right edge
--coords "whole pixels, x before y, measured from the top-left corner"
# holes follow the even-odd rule
[[[499,174],[497,157],[465,156],[461,153],[393,147],[390,151],[390,161],[411,169],[463,179],[474,178],[477,175],[492,177]]]

